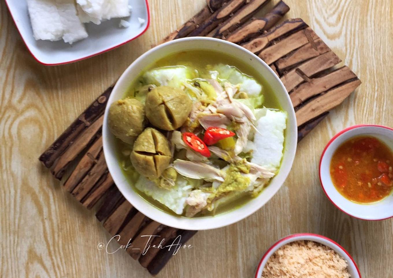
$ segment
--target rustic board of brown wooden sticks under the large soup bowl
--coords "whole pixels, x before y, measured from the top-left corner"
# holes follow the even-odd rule
[[[298,141],[341,104],[360,80],[347,66],[336,68],[341,60],[300,18],[279,21],[289,11],[280,1],[261,18],[254,15],[270,0],[208,0],[193,18],[168,35],[162,42],[186,36],[211,36],[242,45],[263,59],[281,78],[296,111]],[[87,209],[99,203],[97,220],[111,236],[119,234],[122,245],[132,258],[157,274],[173,251],[149,249],[141,255],[147,238],[151,244],[173,241],[181,235],[185,243],[196,231],[185,231],[152,221],[137,211],[118,191],[108,173],[102,149],[101,127],[109,87],[40,156],[55,178],[63,179],[64,188]],[[75,166],[76,165],[76,166]],[[69,174],[65,174],[69,173]],[[135,250],[140,247],[141,250]]]

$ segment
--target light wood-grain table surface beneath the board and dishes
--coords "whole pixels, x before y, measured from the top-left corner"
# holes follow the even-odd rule
[[[276,1],[274,1],[276,2]],[[270,245],[292,233],[328,236],[351,253],[365,278],[393,277],[393,219],[356,220],[321,190],[325,144],[354,124],[393,127],[393,1],[286,0],[363,84],[298,146],[280,191],[229,227],[200,231],[157,277],[252,277]],[[38,161],[98,94],[151,45],[185,22],[204,0],[150,0],[151,27],[140,38],[71,65],[45,67],[28,53],[0,2],[0,276],[150,277],[119,251],[97,250],[109,234]]]

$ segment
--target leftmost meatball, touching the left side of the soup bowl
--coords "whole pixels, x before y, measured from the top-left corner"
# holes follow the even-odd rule
[[[134,98],[118,100],[110,105],[108,125],[114,136],[132,145],[145,127],[145,107]]]

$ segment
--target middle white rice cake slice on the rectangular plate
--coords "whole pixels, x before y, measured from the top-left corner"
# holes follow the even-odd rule
[[[55,0],[63,24],[63,40],[69,44],[88,37],[77,15],[74,0]]]

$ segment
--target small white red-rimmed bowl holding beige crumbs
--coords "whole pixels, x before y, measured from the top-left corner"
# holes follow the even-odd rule
[[[330,238],[321,236],[320,234],[301,233],[301,234],[292,234],[290,236],[286,236],[285,238],[282,238],[281,240],[274,243],[272,247],[270,247],[268,251],[266,251],[261,261],[259,262],[257,266],[257,271],[255,272],[255,278],[261,278],[266,263],[268,262],[270,256],[272,256],[275,251],[277,251],[280,247],[288,243],[299,241],[299,240],[310,240],[310,241],[321,243],[322,245],[325,245],[327,247],[330,247],[331,249],[336,251],[337,254],[342,256],[344,260],[347,261],[348,270],[349,270],[349,274],[351,274],[351,278],[362,277],[360,275],[360,271],[355,261],[353,260],[351,255],[340,244],[331,240]]]

